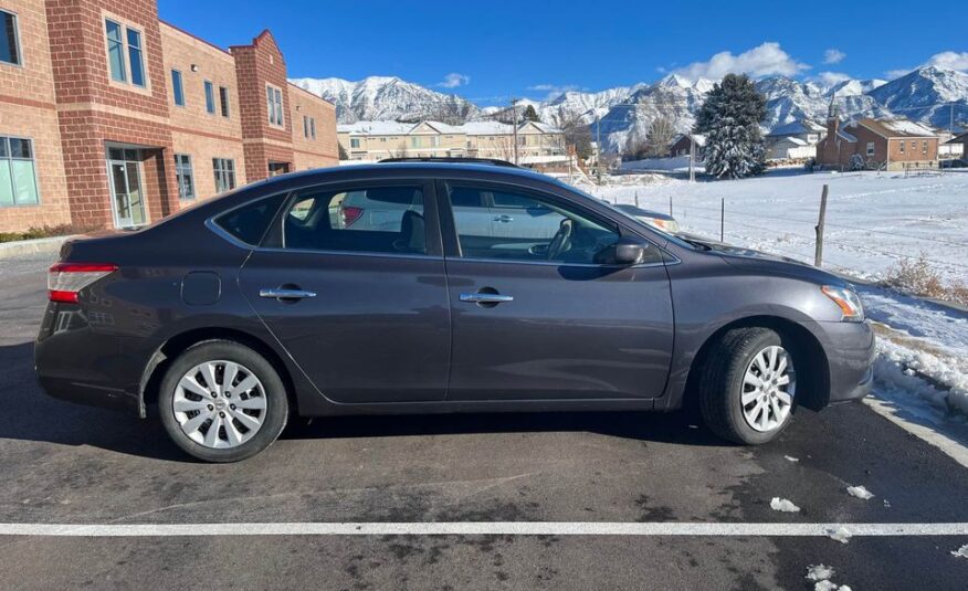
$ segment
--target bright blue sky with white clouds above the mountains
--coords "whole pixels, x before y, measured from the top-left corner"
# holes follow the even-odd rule
[[[484,105],[669,72],[832,81],[925,63],[968,70],[965,28],[920,6],[918,15],[909,1],[159,0],[162,19],[221,46],[271,29],[291,77],[396,75]]]

